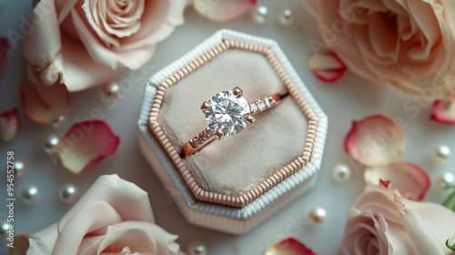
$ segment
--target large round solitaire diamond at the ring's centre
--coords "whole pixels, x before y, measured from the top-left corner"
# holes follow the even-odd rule
[[[205,114],[210,129],[221,129],[225,136],[233,136],[247,127],[249,105],[245,97],[223,91],[212,97],[208,106]]]

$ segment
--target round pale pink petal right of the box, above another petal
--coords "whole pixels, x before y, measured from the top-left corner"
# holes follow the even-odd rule
[[[375,115],[353,121],[344,148],[368,167],[388,165],[404,152],[406,134],[388,117]]]

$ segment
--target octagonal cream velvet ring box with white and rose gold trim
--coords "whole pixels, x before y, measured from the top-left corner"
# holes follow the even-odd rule
[[[248,102],[289,96],[254,126],[183,158],[185,144],[207,128],[201,103],[234,87]],[[138,134],[147,162],[190,223],[241,234],[314,185],[327,126],[275,41],[220,30],[150,77]]]

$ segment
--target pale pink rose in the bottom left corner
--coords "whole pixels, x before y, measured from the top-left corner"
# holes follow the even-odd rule
[[[146,191],[102,176],[59,222],[30,236],[27,254],[177,254],[177,236],[154,222]]]

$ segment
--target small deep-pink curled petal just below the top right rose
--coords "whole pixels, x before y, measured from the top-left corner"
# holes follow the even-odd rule
[[[320,80],[334,82],[346,71],[346,66],[333,52],[320,52],[311,56],[308,60],[309,69]]]

